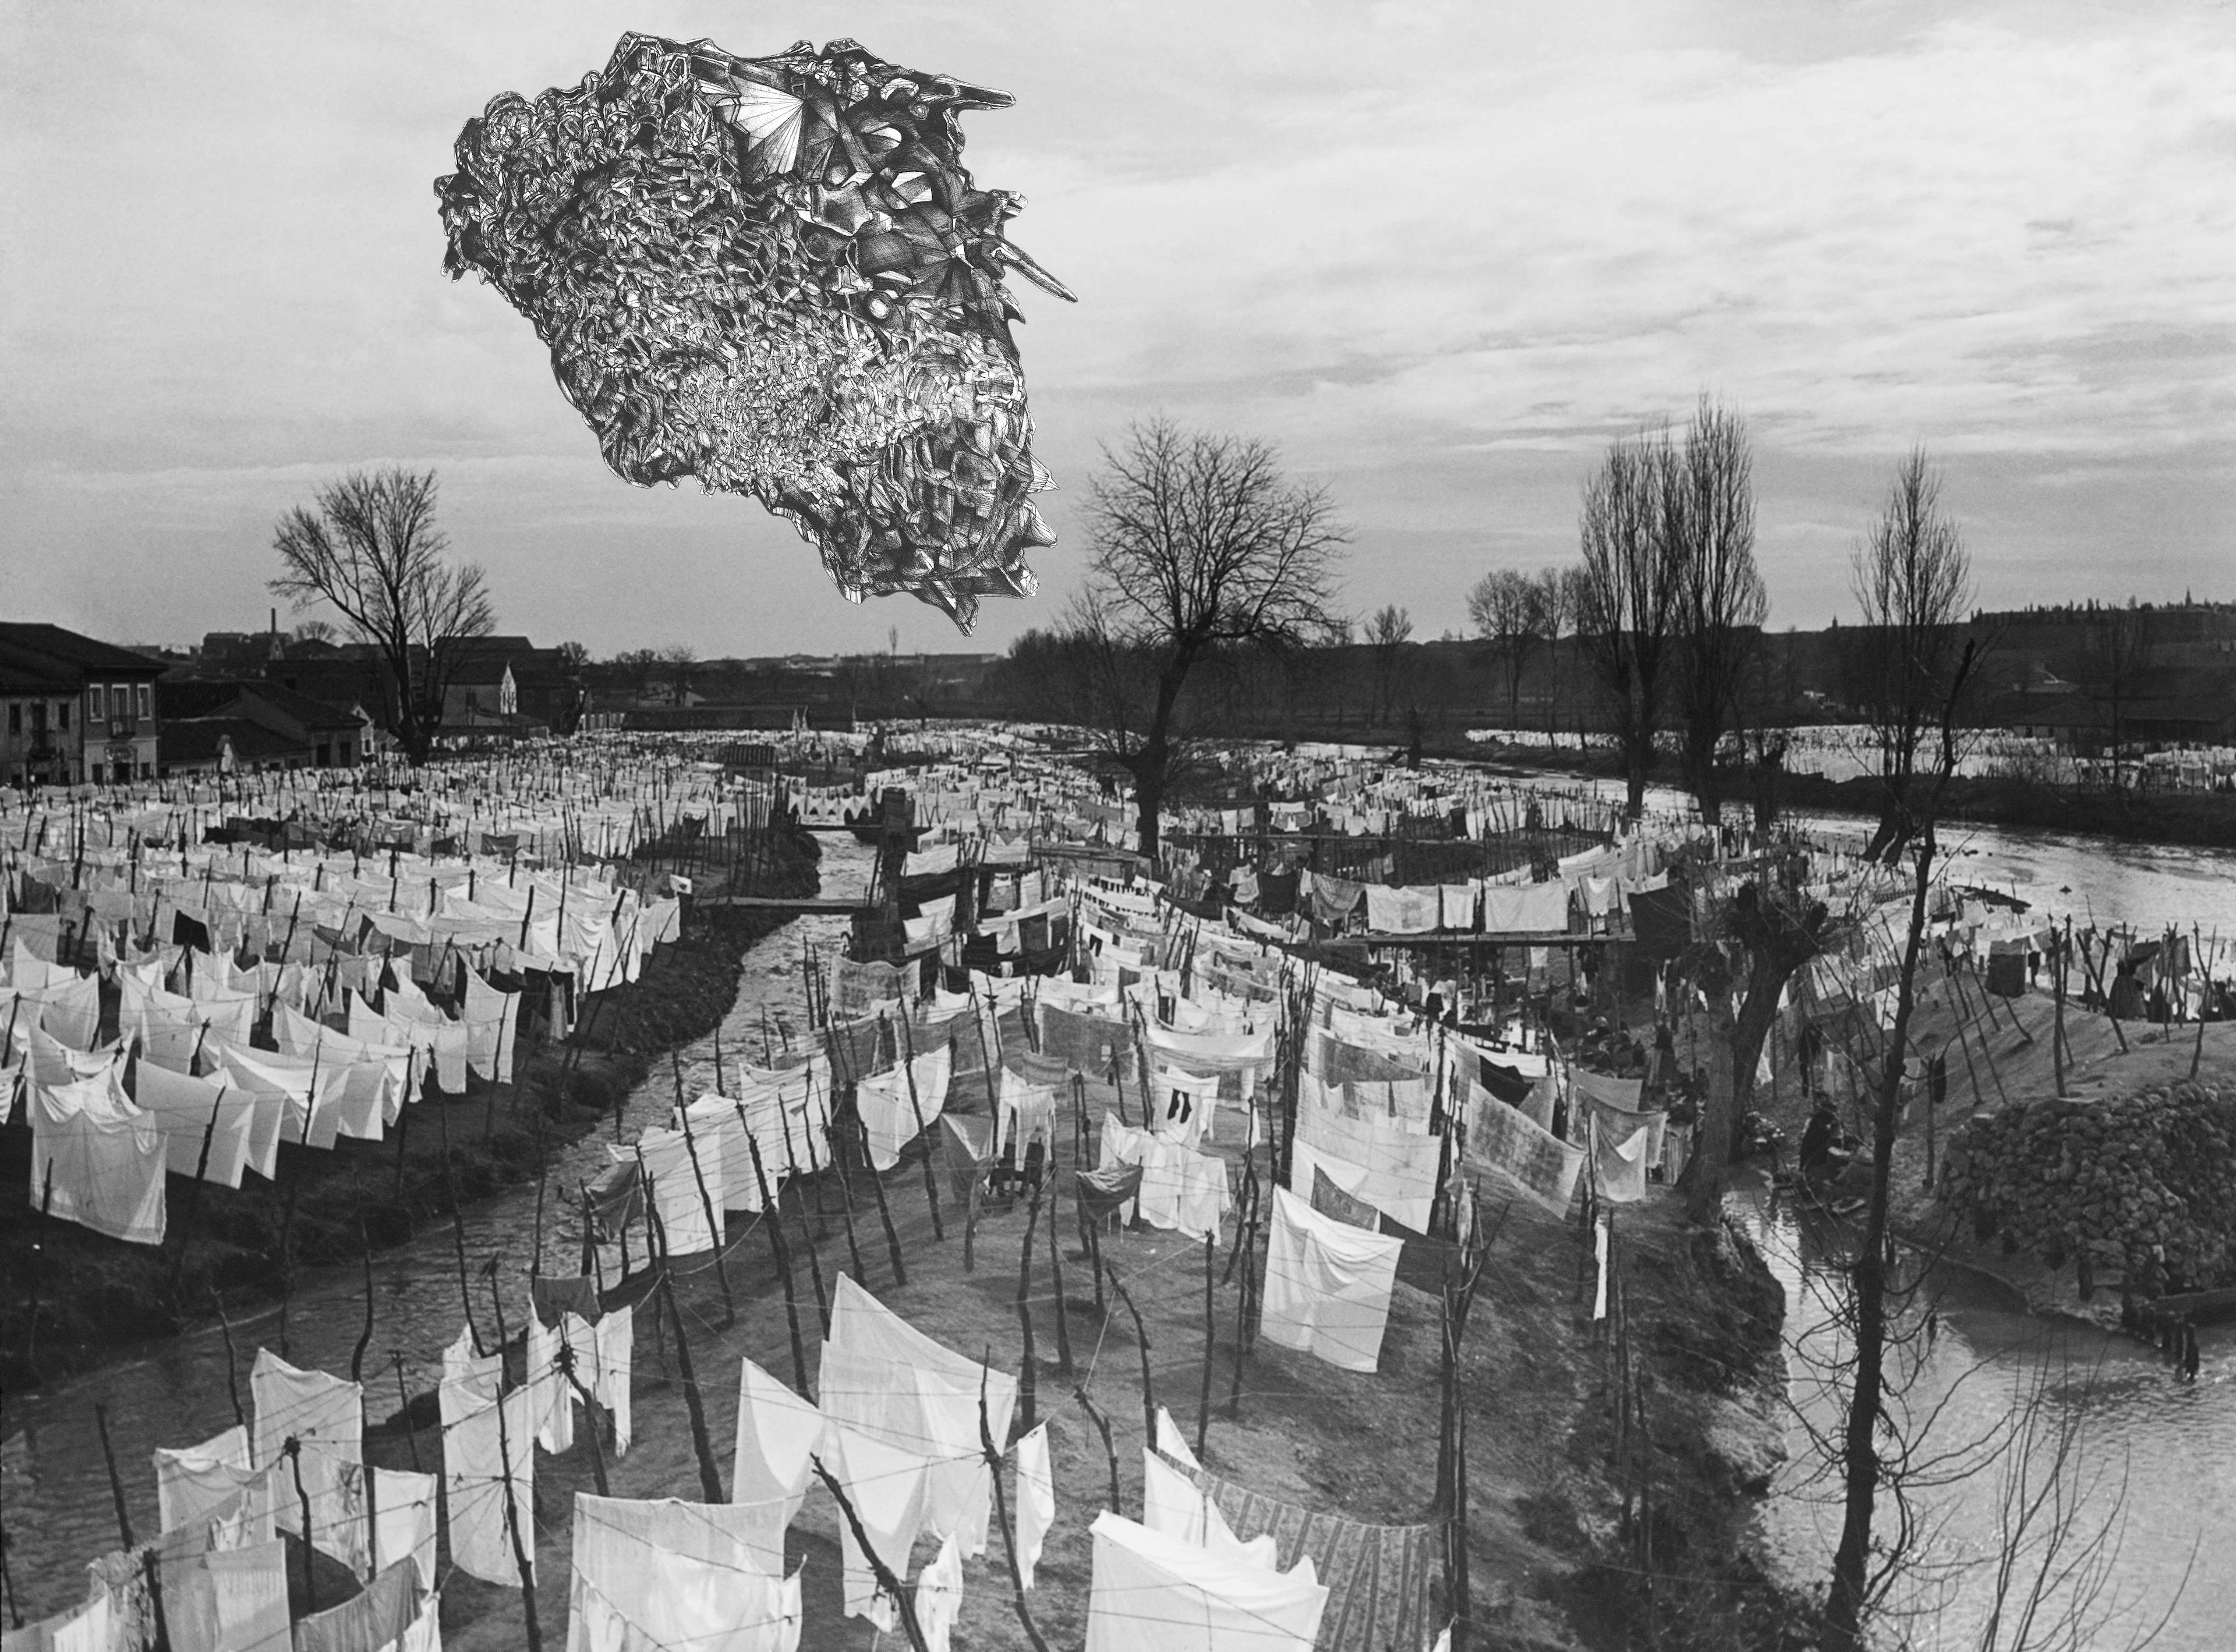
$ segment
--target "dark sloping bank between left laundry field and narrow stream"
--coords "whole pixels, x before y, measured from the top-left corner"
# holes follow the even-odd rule
[[[700,885],[711,892],[720,879]],[[785,843],[756,887],[812,894],[814,863]],[[286,1276],[282,1232],[291,1234],[286,1250],[297,1268],[351,1263],[360,1256],[360,1221],[371,1245],[385,1250],[447,1218],[454,1200],[472,1205],[505,1185],[532,1183],[543,1147],[595,1129],[662,1053],[722,1022],[738,997],[745,948],[771,928],[771,919],[727,910],[695,917],[680,941],[655,948],[635,984],[584,1004],[577,1042],[523,1042],[512,1084],[470,1080],[465,1095],[443,1095],[427,1084],[387,1142],[344,1138],[333,1151],[282,1142],[277,1180],[248,1176],[237,1191],[206,1185],[199,1203],[192,1180],[172,1176],[165,1189],[170,1236],[161,1250],[125,1245],[76,1223],[40,1221],[29,1194],[31,1136],[18,1115],[0,1131],[0,1303],[7,1308],[0,1314],[0,1386],[20,1390],[56,1382],[127,1346],[172,1335],[190,1319],[206,1321],[217,1292],[228,1308],[277,1297]],[[599,997],[610,1001],[601,1006]]]

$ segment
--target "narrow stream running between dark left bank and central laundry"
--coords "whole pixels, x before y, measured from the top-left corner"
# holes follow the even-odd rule
[[[821,841],[823,892],[861,892],[874,852],[847,834],[821,834]],[[756,941],[745,955],[738,1001],[724,1017],[722,1031],[682,1048],[686,1093],[700,1095],[716,1086],[718,1037],[729,1062],[745,1053],[760,1060],[765,1035],[776,1042],[774,1048],[780,1048],[787,1031],[798,1039],[807,1022],[800,988],[803,950],[814,943],[821,957],[836,957],[845,939],[843,914],[812,914]],[[622,1136],[635,1140],[646,1127],[666,1124],[673,1104],[673,1073],[666,1062],[655,1062],[651,1077],[622,1109]],[[613,1129],[601,1127],[552,1156],[543,1209],[543,1256],[552,1272],[572,1272],[577,1265],[581,1207],[575,1187],[610,1165],[606,1149],[613,1140]],[[481,1270],[494,1259],[505,1323],[517,1328],[521,1323],[517,1314],[528,1301],[537,1189],[514,1187],[472,1205],[463,1225],[467,1272],[474,1276],[474,1319],[487,1339],[490,1283]],[[398,1382],[411,1393],[434,1388],[443,1348],[456,1339],[463,1314],[449,1223],[436,1223],[411,1243],[373,1259],[373,1339],[364,1355],[367,1422],[378,1422],[402,1404]],[[288,1308],[293,1364],[347,1373],[362,1328],[360,1268],[304,1270],[297,1276]],[[271,1344],[277,1350],[277,1306],[235,1319],[233,1339],[246,1406],[248,1366],[257,1346]],[[116,1547],[116,1507],[101,1464],[96,1402],[110,1411],[110,1440],[116,1446],[132,1529],[141,1536],[152,1534],[159,1525],[154,1449],[199,1444],[233,1426],[221,1330],[201,1326],[36,1395],[7,1395],[7,1417],[0,1426],[0,1520],[7,1525],[9,1580],[18,1589],[25,1621],[83,1601],[85,1563]]]

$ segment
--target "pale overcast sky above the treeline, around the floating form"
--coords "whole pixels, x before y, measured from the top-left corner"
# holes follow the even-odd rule
[[[975,642],[751,501],[622,483],[443,277],[458,125],[624,29],[1015,94],[966,161],[1080,304],[1020,286],[1062,543]],[[1753,429],[1775,626],[1854,613],[1912,443],[1990,606],[2236,597],[2229,4],[0,0],[0,615],[114,639],[262,626],[275,519],[402,463],[539,642],[1002,648],[1154,411],[1277,443],[1351,610],[1433,637],[1574,559],[1594,456],[1702,391]]]

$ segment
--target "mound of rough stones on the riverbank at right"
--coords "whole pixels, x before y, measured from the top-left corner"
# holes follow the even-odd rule
[[[1941,1185],[1981,1238],[2142,1294],[2236,1283],[2236,1095],[2180,1082],[1972,1120]]]

